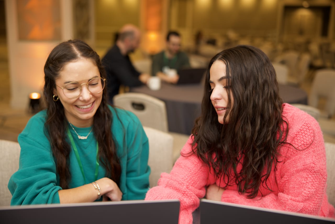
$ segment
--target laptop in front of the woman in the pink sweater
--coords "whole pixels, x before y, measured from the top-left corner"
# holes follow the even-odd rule
[[[200,223],[334,224],[335,219],[201,199]]]

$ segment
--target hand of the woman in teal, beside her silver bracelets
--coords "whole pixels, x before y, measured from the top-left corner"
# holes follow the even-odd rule
[[[108,198],[112,201],[120,201],[122,199],[122,192],[118,185],[111,179],[104,177],[95,181],[101,190],[103,201],[107,201]],[[92,186],[93,187],[93,186]]]

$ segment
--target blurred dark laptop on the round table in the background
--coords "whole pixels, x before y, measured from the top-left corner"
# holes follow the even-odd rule
[[[199,84],[206,72],[205,68],[185,68],[178,71],[177,85]]]

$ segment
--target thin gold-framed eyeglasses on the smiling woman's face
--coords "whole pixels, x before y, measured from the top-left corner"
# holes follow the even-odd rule
[[[84,80],[80,80],[80,81],[84,81]],[[79,84],[78,82],[80,82],[80,81],[70,82],[70,83],[66,84],[63,88],[60,87],[60,86],[58,86],[58,87],[63,90],[63,93],[67,98],[74,99],[74,98],[77,98],[80,95],[81,86],[84,85],[84,84],[87,85],[88,91],[90,91],[92,94],[100,93],[105,88],[106,79],[103,79],[101,77],[100,78],[93,78],[93,79],[90,79],[87,83]]]

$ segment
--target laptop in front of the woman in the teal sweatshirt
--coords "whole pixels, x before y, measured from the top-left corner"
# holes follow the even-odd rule
[[[1,223],[171,224],[178,223],[179,200],[128,200],[0,207]]]

